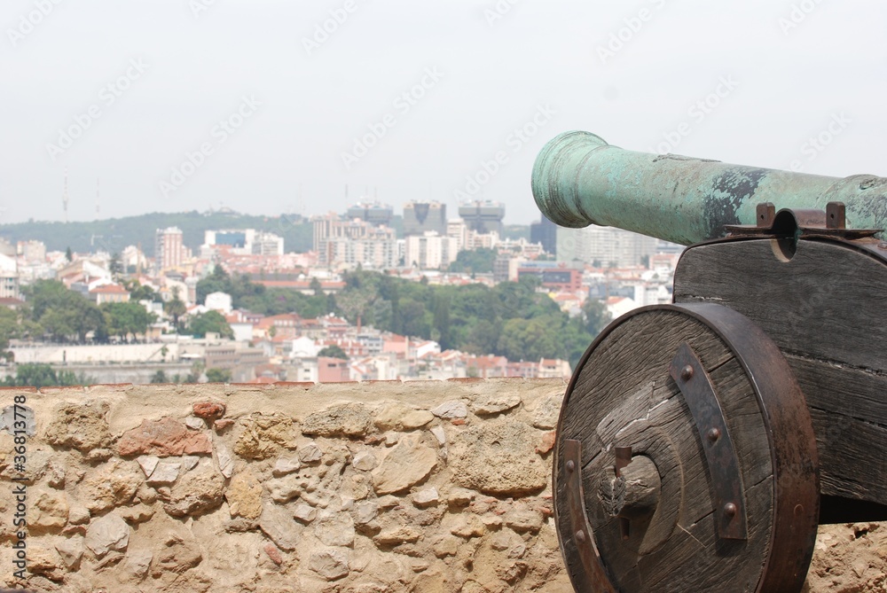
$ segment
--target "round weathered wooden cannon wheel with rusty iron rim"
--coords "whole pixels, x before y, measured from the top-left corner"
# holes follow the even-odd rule
[[[810,413],[779,349],[733,309],[610,324],[564,397],[553,488],[577,591],[803,587],[819,514]]]

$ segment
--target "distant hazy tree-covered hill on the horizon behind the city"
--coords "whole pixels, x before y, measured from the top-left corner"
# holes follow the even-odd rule
[[[154,237],[158,229],[178,227],[182,230],[184,245],[197,249],[203,243],[206,230],[255,229],[274,233],[284,238],[287,252],[305,252],[311,249],[311,225],[298,215],[251,216],[236,213],[153,213],[125,218],[111,218],[93,222],[19,222],[0,224],[0,237],[10,241],[35,239],[43,241],[50,251],[65,251],[70,247],[78,253],[98,250],[114,254],[124,247],[141,244],[145,255],[154,254]]]

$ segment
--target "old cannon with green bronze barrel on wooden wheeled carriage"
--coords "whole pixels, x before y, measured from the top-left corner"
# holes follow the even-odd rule
[[[887,178],[546,144],[552,222],[688,246],[668,305],[569,381],[554,520],[577,591],[804,586],[820,524],[887,519]]]

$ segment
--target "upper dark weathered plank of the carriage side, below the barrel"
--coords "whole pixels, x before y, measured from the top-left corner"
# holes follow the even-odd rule
[[[833,242],[799,241],[784,261],[773,241],[688,249],[675,302],[711,300],[757,323],[786,352],[887,371],[887,264]]]

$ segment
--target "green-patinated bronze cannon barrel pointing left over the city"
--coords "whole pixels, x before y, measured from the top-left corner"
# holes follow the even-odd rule
[[[614,226],[682,245],[721,237],[726,224],[754,224],[764,202],[821,210],[844,202],[848,228],[887,228],[884,177],[817,176],[632,152],[582,131],[546,144],[532,186],[539,209],[561,226]]]

